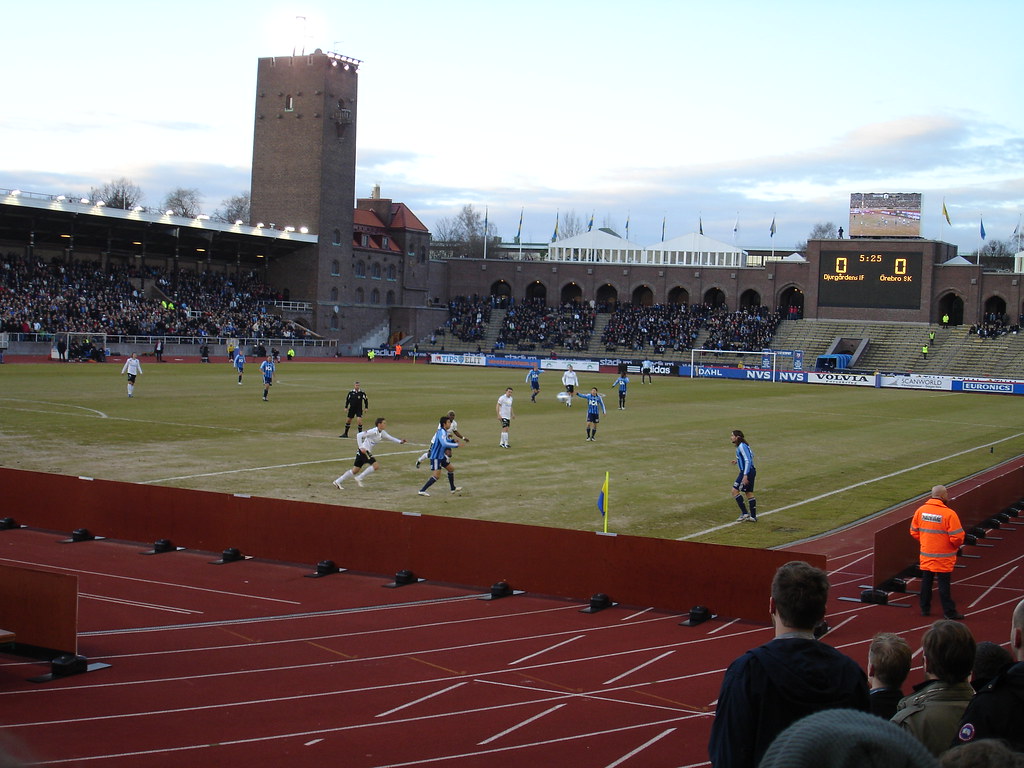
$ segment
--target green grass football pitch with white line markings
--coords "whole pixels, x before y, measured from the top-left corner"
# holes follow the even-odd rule
[[[0,367],[2,464],[222,493],[454,515],[584,530],[601,528],[597,494],[610,472],[609,531],[770,547],[827,530],[1024,452],[1024,398],[867,387],[635,377],[617,410],[610,374],[581,374],[607,415],[586,441],[585,402],[560,403],[557,373],[529,401],[520,370],[377,362],[284,362],[262,401],[257,367],[239,386],[226,361],[143,360],[135,397],[120,362]],[[342,400],[358,380],[378,416],[409,440],[382,442],[380,471],[359,488],[331,481],[350,467]],[[495,402],[515,388],[512,447],[498,447]],[[455,452],[451,495],[429,499],[416,458],[455,410],[470,438]],[[761,521],[738,510],[729,432],[754,447]],[[351,434],[354,435],[353,427]],[[416,444],[418,443],[418,444]],[[471,543],[467,543],[471,546]]]

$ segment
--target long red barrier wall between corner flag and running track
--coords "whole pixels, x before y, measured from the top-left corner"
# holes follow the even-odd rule
[[[666,539],[403,514],[356,507],[240,498],[183,488],[0,468],[5,514],[37,528],[175,545],[309,563],[334,560],[392,575],[514,589],[580,600],[603,592],[616,602],[766,623],[775,569],[822,555],[693,544]],[[87,546],[87,545],[75,545]]]

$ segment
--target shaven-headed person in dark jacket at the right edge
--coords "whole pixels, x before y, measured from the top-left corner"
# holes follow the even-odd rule
[[[1010,652],[1017,663],[981,688],[964,712],[953,744],[1001,738],[1024,752],[1024,600],[1017,603],[1010,624]]]

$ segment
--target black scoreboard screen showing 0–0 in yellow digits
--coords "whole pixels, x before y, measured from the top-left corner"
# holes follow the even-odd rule
[[[921,309],[921,253],[821,252],[818,305]]]

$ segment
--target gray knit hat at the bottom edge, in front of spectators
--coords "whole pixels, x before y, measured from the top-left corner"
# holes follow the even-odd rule
[[[772,741],[760,768],[938,768],[918,739],[878,715],[825,710]]]

